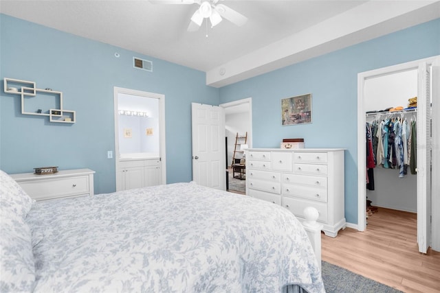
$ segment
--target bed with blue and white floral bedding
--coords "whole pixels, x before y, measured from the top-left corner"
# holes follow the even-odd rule
[[[325,292],[276,204],[195,183],[34,202],[0,176],[1,292]]]

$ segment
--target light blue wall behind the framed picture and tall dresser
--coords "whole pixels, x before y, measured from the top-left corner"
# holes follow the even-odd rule
[[[358,222],[358,73],[440,55],[440,19],[220,89],[221,103],[252,97],[252,145],[345,148],[345,217]],[[312,124],[281,125],[281,99],[312,94]],[[398,105],[390,105],[398,106]]]

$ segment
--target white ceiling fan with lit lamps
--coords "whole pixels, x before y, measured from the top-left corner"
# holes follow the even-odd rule
[[[227,19],[240,27],[248,21],[243,14],[226,5],[217,4],[219,1],[221,0],[150,0],[151,3],[162,4],[199,4],[199,8],[191,16],[188,32],[199,30],[203,19],[209,19],[212,27],[218,25],[222,19]]]

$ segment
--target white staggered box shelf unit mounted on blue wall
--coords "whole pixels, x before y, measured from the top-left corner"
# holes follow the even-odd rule
[[[47,116],[50,122],[75,123],[76,112],[63,109],[63,92],[52,89],[36,89],[36,83],[28,80],[4,78],[4,92],[21,95],[21,114]],[[38,99],[37,101],[33,101]],[[43,110],[43,108],[47,110]]]

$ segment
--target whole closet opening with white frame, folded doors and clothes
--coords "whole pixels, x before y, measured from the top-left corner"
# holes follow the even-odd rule
[[[369,204],[414,213],[419,252],[440,251],[440,56],[359,73],[358,115],[358,230],[374,216]],[[388,154],[378,159],[378,128],[369,126],[382,121]],[[400,149],[389,148],[395,142]],[[367,166],[372,159],[374,167]]]

